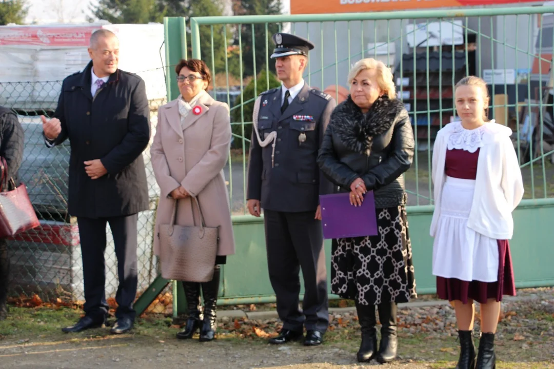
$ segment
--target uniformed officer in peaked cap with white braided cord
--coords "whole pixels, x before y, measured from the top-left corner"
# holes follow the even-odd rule
[[[332,193],[316,158],[336,102],[302,79],[314,44],[288,33],[276,33],[272,39],[271,58],[282,85],[261,93],[256,102],[258,129],[253,129],[250,143],[247,206],[254,216],[264,210],[269,279],[283,321],[279,336],[269,342],[299,340],[305,327],[304,345],[316,346],[329,325],[319,195]]]

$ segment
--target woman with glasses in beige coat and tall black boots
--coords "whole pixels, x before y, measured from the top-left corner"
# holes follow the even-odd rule
[[[181,60],[175,71],[181,95],[160,107],[150,150],[152,168],[161,189],[154,252],[159,254],[163,247],[158,228],[171,221],[175,199],[179,200],[176,224],[193,226],[194,220],[199,221],[197,207],[192,206],[191,199],[197,196],[206,226],[220,227],[219,245],[213,280],[206,283],[183,281],[189,316],[185,329],[177,338],[192,338],[201,328],[199,340],[211,341],[216,330],[219,265],[225,264],[227,255],[235,252],[229,194],[223,174],[231,141],[229,106],[215,101],[206,92],[211,74],[203,61]]]

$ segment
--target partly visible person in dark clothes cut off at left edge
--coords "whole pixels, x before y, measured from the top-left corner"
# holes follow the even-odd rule
[[[7,178],[13,178],[18,184],[17,171],[23,160],[23,128],[16,113],[0,106],[0,157],[6,159],[8,165]],[[0,173],[0,176],[2,173]],[[2,189],[6,191],[8,189]],[[8,273],[9,258],[6,238],[0,238],[0,320],[6,319],[8,307]]]

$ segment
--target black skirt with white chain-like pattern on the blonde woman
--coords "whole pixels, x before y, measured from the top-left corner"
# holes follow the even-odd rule
[[[332,242],[331,292],[361,305],[416,298],[406,207],[377,210],[377,236]]]

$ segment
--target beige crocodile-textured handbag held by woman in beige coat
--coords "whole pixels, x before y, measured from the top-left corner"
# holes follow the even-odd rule
[[[196,196],[192,196],[191,209],[198,206],[200,226],[176,225],[177,203],[173,202],[170,224],[160,225],[160,260],[162,277],[187,282],[209,282],[216,265],[219,227],[206,227],[202,209]]]

